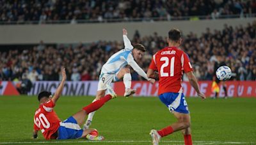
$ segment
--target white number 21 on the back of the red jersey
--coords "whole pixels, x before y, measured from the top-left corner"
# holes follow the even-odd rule
[[[166,76],[174,76],[174,61],[175,61],[175,57],[172,57],[171,59],[169,59],[169,57],[161,57],[160,59],[161,62],[164,62],[164,64],[162,64],[161,68],[160,68],[160,76],[161,77],[166,77]],[[164,68],[168,67],[170,64],[170,74],[169,72],[164,72]]]

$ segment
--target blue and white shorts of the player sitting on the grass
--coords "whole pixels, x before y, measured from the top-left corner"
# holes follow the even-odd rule
[[[58,139],[78,139],[82,137],[83,131],[77,124],[77,121],[71,116],[60,123]]]

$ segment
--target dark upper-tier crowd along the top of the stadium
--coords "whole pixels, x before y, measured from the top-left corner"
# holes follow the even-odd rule
[[[219,18],[223,15],[247,15],[256,13],[255,0],[23,0],[0,1],[0,22],[38,21],[40,24],[52,20],[109,19],[172,20],[188,16]]]

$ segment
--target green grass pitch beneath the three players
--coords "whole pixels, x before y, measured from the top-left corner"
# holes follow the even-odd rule
[[[55,107],[61,120],[67,119],[93,97],[62,96]],[[256,144],[256,99],[187,98],[194,144]],[[85,139],[45,141],[30,139],[35,96],[0,96],[0,144],[151,144],[148,133],[173,123],[175,118],[157,97],[118,97],[109,100],[93,118],[92,128],[105,137],[102,142]],[[184,144],[180,132],[161,139],[160,144]]]

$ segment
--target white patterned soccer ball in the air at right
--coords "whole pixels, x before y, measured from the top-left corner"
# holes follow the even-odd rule
[[[217,69],[216,76],[221,81],[226,81],[232,76],[231,69],[228,66],[221,66]]]

